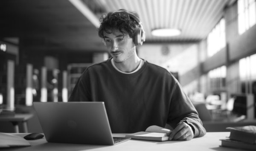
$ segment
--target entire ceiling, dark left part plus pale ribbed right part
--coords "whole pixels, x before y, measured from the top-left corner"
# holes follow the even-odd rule
[[[83,0],[94,17],[120,8],[136,11],[145,43],[205,39],[236,0]],[[179,28],[180,36],[156,37],[155,28]],[[19,37],[27,50],[105,51],[96,27],[69,0],[0,0],[0,39]],[[7,41],[7,40],[6,40]]]

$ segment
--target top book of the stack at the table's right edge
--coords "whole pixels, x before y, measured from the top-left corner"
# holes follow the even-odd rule
[[[256,126],[227,127],[227,129],[230,130],[230,139],[256,144]]]

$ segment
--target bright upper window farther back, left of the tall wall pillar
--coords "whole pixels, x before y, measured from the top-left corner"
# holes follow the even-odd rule
[[[220,22],[213,28],[207,37],[207,56],[211,57],[226,45],[225,20],[222,18]]]

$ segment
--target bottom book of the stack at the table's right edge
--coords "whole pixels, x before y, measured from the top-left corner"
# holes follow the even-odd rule
[[[221,140],[221,146],[256,151],[256,144],[244,143],[237,140],[223,139]]]

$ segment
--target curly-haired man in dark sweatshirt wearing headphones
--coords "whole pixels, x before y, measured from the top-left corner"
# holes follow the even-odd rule
[[[69,101],[104,101],[113,133],[145,131],[167,123],[174,128],[169,140],[206,134],[174,76],[137,56],[136,46],[142,45],[145,35],[135,12],[108,13],[98,31],[111,58],[82,73]]]

